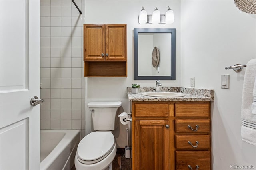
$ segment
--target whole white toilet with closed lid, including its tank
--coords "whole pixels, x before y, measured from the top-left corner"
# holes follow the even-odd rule
[[[90,102],[93,128],[96,132],[86,135],[78,144],[75,166],[77,170],[111,170],[116,156],[116,143],[111,130],[118,125],[116,102]]]

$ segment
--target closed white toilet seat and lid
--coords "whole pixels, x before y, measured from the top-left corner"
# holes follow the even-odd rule
[[[83,164],[94,164],[104,159],[115,146],[111,131],[96,131],[85,136],[77,148],[77,158]]]

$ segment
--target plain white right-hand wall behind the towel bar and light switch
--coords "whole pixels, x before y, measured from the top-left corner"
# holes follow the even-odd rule
[[[213,170],[230,165],[254,165],[256,146],[242,142],[241,99],[244,68],[240,73],[225,66],[246,64],[256,57],[256,17],[241,12],[233,0],[181,2],[181,85],[215,90],[212,103]],[[230,75],[230,89],[220,88],[220,75]]]

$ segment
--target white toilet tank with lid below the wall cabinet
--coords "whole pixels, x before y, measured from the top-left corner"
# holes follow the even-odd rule
[[[98,131],[115,130],[118,125],[118,108],[121,105],[122,102],[120,101],[94,101],[88,103],[92,113],[93,129]]]

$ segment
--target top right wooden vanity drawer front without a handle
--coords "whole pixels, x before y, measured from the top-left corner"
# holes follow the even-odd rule
[[[208,103],[176,103],[176,117],[209,117],[210,105]]]

